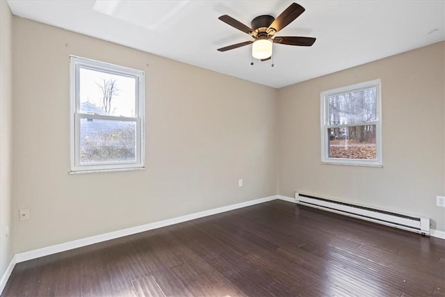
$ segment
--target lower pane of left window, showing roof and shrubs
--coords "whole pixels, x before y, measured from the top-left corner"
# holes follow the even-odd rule
[[[81,163],[136,161],[136,122],[81,118]]]

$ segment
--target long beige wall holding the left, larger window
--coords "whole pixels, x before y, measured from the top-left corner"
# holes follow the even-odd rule
[[[276,194],[277,90],[19,17],[13,25],[15,212],[31,209],[15,220],[15,252]],[[145,71],[146,170],[68,174],[70,54]]]

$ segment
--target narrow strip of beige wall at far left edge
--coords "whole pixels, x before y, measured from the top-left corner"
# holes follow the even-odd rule
[[[0,278],[13,258],[12,229],[12,94],[11,94],[12,15],[6,1],[0,1]]]

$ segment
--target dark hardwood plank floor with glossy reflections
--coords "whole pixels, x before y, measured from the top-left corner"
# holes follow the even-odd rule
[[[445,296],[445,240],[275,200],[15,266],[1,296]]]

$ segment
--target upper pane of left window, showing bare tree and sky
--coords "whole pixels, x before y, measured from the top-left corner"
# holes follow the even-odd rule
[[[82,113],[135,117],[136,78],[79,69]]]

